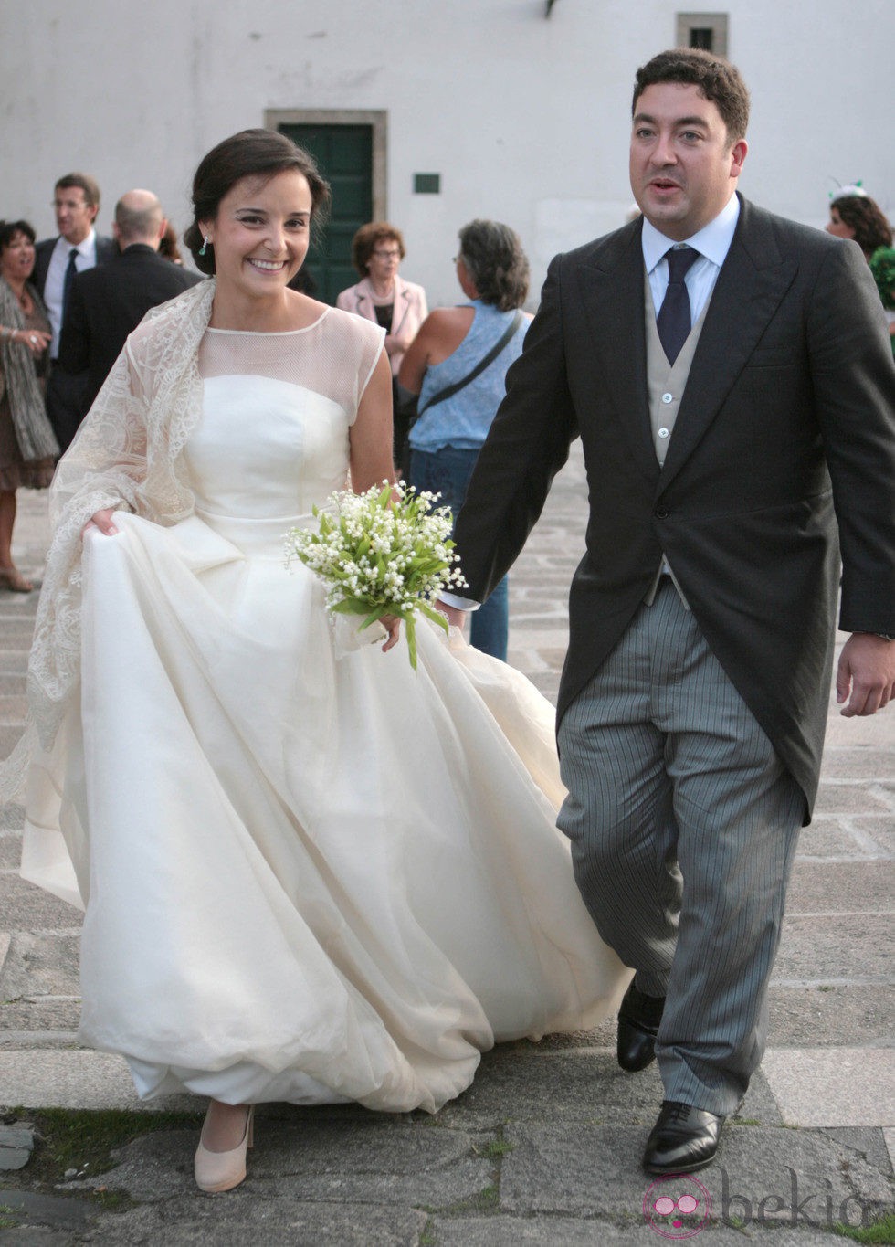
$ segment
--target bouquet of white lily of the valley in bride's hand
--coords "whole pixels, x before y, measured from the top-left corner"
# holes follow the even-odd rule
[[[466,585],[454,566],[451,514],[434,508],[438,498],[403,481],[384,481],[364,494],[339,490],[313,509],[317,530],[290,529],[285,536],[287,567],[298,559],[318,575],[333,614],[363,616],[359,631],[384,615],[404,620],[414,670],[416,611],[446,632],[448,620],[430,600]]]

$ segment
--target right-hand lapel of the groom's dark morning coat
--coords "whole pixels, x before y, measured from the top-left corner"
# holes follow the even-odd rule
[[[765,214],[747,201],[722,266],[693,357],[659,491],[704,436],[755,349],[798,263],[782,256]]]

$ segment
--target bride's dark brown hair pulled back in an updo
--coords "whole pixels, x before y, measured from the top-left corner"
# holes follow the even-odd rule
[[[267,182],[288,170],[295,170],[307,178],[310,219],[312,224],[317,224],[329,207],[329,183],[320,177],[313,156],[285,135],[275,130],[241,130],[202,157],[193,178],[193,223],[183,234],[199,272],[209,277],[214,273],[214,248],[209,244],[204,256],[199,254],[203,242],[199,221],[213,221],[221,200],[244,177]]]

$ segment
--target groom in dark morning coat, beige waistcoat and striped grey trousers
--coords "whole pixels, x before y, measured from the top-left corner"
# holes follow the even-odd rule
[[[643,218],[557,256],[456,525],[471,605],[568,445],[590,489],[557,720],[560,827],[636,969],[618,1060],[658,1059],[652,1173],[708,1165],[767,1036],[810,818],[835,604],[843,715],[895,685],[895,368],[859,248],[735,193],[748,92],[707,52],[637,72]],[[455,619],[459,619],[459,612]]]

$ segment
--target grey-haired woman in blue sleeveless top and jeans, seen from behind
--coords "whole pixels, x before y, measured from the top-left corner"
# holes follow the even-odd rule
[[[400,384],[419,394],[410,430],[410,484],[441,495],[456,515],[479,451],[506,393],[506,370],[522,352],[531,317],[529,261],[519,234],[499,221],[460,231],[456,277],[467,303],[440,308],[424,322],[404,357]],[[470,640],[506,661],[506,577],[472,614]]]

